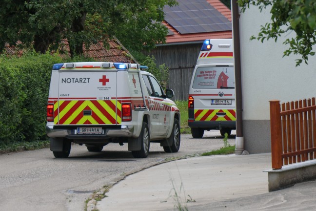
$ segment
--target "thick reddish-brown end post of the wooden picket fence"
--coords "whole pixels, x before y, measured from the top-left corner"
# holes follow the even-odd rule
[[[270,102],[270,128],[271,128],[271,157],[272,169],[282,168],[282,128],[280,116],[280,101]]]

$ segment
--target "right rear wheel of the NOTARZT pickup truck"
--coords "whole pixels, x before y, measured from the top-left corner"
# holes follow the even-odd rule
[[[134,158],[146,158],[149,154],[150,140],[149,140],[149,129],[147,123],[143,122],[141,126],[141,132],[139,139],[141,142],[141,148],[139,151],[132,151]]]

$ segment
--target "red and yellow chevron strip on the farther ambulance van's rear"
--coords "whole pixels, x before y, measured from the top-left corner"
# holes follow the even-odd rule
[[[216,113],[226,113],[225,116],[217,116]],[[195,121],[236,121],[235,109],[195,109]]]

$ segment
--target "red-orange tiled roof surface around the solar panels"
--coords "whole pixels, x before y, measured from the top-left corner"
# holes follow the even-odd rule
[[[229,21],[232,21],[231,10],[227,8],[220,0],[206,0],[211,4],[218,12],[225,16]],[[203,33],[191,33],[191,34],[180,34],[174,27],[163,21],[169,31],[166,38],[167,44],[179,43],[179,42],[202,42],[205,39],[219,39],[219,38],[232,38],[232,31],[216,31],[216,32],[203,32]]]

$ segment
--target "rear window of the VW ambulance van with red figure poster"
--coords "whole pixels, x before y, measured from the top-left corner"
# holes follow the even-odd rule
[[[192,88],[235,88],[235,72],[232,66],[198,67]]]

